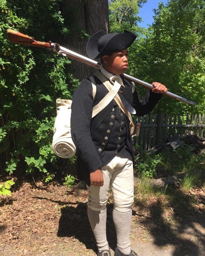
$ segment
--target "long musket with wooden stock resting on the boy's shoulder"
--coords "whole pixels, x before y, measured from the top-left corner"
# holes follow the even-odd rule
[[[63,55],[63,56],[68,56],[71,59],[78,60],[78,61],[80,61],[82,63],[85,63],[89,66],[92,66],[94,68],[100,68],[100,63],[96,62],[95,60],[87,58],[87,57],[85,57],[83,55],[80,55],[76,52],[70,51],[69,49],[66,49],[66,48],[60,46],[58,43],[52,43],[51,41],[50,42],[36,41],[35,39],[33,39],[33,38],[31,38],[27,35],[24,35],[23,33],[20,33],[16,30],[12,30],[12,29],[7,29],[6,32],[7,32],[9,41],[12,42],[12,43],[26,44],[26,45],[30,45],[30,46],[45,48],[45,49],[48,49],[48,50],[50,50],[54,53],[58,53],[58,54]],[[132,82],[137,83],[137,84],[140,84],[140,85],[142,85],[142,86],[144,86],[148,89],[153,89],[153,85],[151,85],[147,82],[144,82],[144,81],[139,80],[135,77],[126,75],[125,73],[122,74],[122,76],[124,78],[126,78],[127,80],[132,81]],[[163,93],[163,94],[170,97],[170,98],[180,100],[181,102],[186,102],[190,105],[196,105],[196,103],[193,102],[192,100],[183,98],[183,97],[178,96],[174,93],[171,93],[171,92],[167,91],[166,93]]]

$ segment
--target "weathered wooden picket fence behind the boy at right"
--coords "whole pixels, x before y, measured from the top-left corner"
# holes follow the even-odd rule
[[[187,114],[187,117],[180,114],[147,114],[143,117],[136,117],[134,124],[141,123],[139,137],[134,137],[134,143],[139,144],[145,150],[150,150],[154,145],[165,143],[172,135],[183,136],[196,134],[205,137],[205,115]]]

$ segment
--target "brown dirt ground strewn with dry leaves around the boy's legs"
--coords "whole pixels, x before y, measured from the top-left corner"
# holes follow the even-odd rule
[[[168,201],[150,197],[143,203],[136,196],[131,239],[139,256],[205,256],[205,188],[187,194],[179,191],[180,201],[175,197],[174,193]],[[190,197],[193,203],[187,200]],[[18,181],[12,196],[0,200],[0,255],[96,255],[86,190]],[[116,233],[111,200],[107,236],[113,255]]]

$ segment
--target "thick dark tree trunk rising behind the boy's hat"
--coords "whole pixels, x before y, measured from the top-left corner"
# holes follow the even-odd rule
[[[70,27],[66,40],[66,48],[86,55],[88,36],[99,30],[109,31],[108,1],[107,0],[64,0],[61,13],[65,25]],[[65,40],[64,39],[64,40]],[[96,69],[72,60],[70,72],[79,80],[90,77]]]

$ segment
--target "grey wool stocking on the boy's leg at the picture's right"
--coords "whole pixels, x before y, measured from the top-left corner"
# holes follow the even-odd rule
[[[132,223],[132,209],[128,212],[119,212],[113,208],[113,221],[117,233],[117,247],[124,254],[130,254],[130,230]]]

